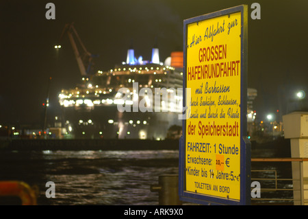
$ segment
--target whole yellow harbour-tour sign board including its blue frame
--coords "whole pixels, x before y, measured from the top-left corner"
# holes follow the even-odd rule
[[[181,200],[249,205],[247,5],[184,21]],[[187,95],[189,93],[190,95]]]

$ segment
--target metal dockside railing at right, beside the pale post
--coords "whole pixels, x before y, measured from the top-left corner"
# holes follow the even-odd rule
[[[261,186],[259,188],[260,196],[251,198],[251,204],[308,205],[308,178],[304,178],[303,172],[304,162],[307,161],[308,158],[252,158],[251,182],[257,181]],[[261,168],[261,165],[257,165],[257,163],[271,163],[271,165],[268,164]],[[288,169],[289,171],[279,170],[274,168],[272,163],[275,165],[289,163],[290,169]],[[287,165],[282,166],[286,167]],[[257,170],[257,168],[261,168],[261,170]],[[294,168],[299,170],[295,177]]]

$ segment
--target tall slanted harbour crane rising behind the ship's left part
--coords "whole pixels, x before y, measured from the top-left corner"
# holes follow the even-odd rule
[[[91,66],[93,65],[92,58],[97,57],[97,55],[91,54],[86,49],[86,47],[84,46],[84,43],[82,43],[81,38],[77,34],[77,31],[74,27],[74,23],[67,23],[64,26],[64,30],[61,34],[60,40],[63,38],[65,34],[68,34],[70,44],[73,47],[73,51],[74,51],[74,54],[77,60],[77,64],[78,64],[81,76],[88,77],[90,74]],[[77,46],[77,43],[78,43],[78,46]],[[78,49],[78,47],[80,49]]]

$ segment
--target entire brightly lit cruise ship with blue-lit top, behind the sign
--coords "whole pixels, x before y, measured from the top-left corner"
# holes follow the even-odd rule
[[[171,126],[182,125],[178,118],[183,106],[182,71],[181,51],[172,52],[163,63],[156,47],[151,61],[136,58],[128,49],[122,65],[83,76],[73,89],[62,89],[59,102],[66,134],[88,139],[165,139]]]

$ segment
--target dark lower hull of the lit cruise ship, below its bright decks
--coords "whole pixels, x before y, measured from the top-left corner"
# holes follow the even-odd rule
[[[116,105],[62,108],[68,134],[87,139],[166,139],[171,126],[181,126],[179,113],[123,112]]]

